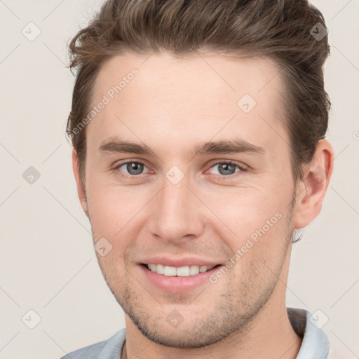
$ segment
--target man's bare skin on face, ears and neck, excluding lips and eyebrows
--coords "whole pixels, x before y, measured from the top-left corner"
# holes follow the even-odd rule
[[[112,245],[97,257],[126,313],[122,358],[295,358],[302,339],[285,306],[293,231],[320,212],[332,174],[330,143],[318,142],[295,186],[281,111],[283,80],[266,58],[121,55],[103,65],[93,103],[133,67],[139,74],[86,126],[84,184],[73,151],[94,242],[104,237]],[[245,93],[257,102],[248,114],[237,105]],[[147,144],[156,156],[98,151],[116,136]],[[193,156],[199,143],[234,138],[264,154]],[[126,161],[143,163],[142,173],[116,168]],[[219,168],[223,161],[246,170],[233,166],[236,172],[228,175]],[[178,184],[165,177],[173,165],[184,173]],[[276,212],[278,222],[217,283],[165,292],[137,264],[157,254],[225,264]],[[183,319],[178,327],[166,320],[173,311]]]

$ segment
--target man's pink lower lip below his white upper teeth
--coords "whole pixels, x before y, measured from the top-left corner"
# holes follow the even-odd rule
[[[198,273],[194,276],[177,277],[177,276],[165,276],[156,272],[150,271],[145,266],[140,265],[144,276],[156,287],[164,290],[165,292],[182,293],[189,292],[194,288],[203,285],[203,283],[209,282],[209,277],[219,269],[219,266],[215,266],[210,271],[204,273]]]

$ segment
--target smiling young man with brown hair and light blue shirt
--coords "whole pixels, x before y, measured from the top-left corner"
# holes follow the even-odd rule
[[[112,0],[72,40],[74,175],[126,328],[70,358],[327,358],[285,306],[333,169],[325,35],[304,0]]]

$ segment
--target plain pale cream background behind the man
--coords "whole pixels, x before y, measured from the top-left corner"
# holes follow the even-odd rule
[[[332,358],[358,358],[359,1],[312,2],[331,45],[334,174],[322,212],[294,245],[287,306],[327,320]],[[0,1],[2,359],[60,358],[125,326],[97,265],[65,138],[67,42],[101,3]]]

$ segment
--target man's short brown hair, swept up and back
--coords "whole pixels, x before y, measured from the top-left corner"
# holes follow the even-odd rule
[[[314,30],[313,30],[314,29]],[[69,44],[76,69],[67,135],[79,156],[84,184],[86,130],[74,131],[90,111],[104,62],[126,52],[245,54],[273,59],[282,72],[294,181],[303,177],[327,131],[330,100],[323,65],[330,53],[323,15],[306,0],[108,0]],[[326,33],[324,34],[326,35]]]

